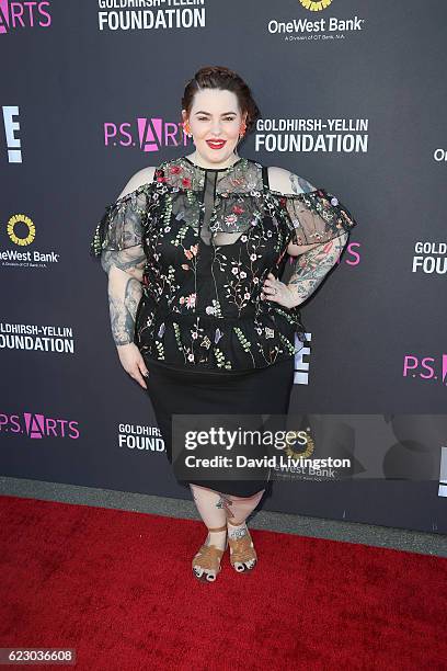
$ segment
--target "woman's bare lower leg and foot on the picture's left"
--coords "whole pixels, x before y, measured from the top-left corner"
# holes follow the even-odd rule
[[[205,545],[214,545],[218,549],[225,549],[227,541],[227,514],[224,509],[221,494],[214,489],[199,485],[190,484],[190,487],[198,513],[208,528]],[[221,527],[224,527],[222,531],[211,531]],[[216,571],[199,566],[199,558],[197,559],[195,571],[197,576],[202,576],[203,571],[216,576]]]

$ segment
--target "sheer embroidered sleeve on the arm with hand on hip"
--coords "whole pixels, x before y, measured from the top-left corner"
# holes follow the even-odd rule
[[[290,228],[290,241],[307,246],[329,242],[357,225],[353,215],[339,200],[324,189],[282,195],[280,205]]]

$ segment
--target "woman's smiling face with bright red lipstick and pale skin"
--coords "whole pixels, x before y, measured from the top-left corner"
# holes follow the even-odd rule
[[[190,117],[185,110],[182,116],[190,122],[196,150],[204,161],[224,163],[234,153],[247,114],[242,117],[232,91],[204,89],[194,95]]]

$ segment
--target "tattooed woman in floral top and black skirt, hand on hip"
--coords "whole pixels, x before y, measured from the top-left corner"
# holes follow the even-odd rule
[[[262,416],[287,413],[295,336],[305,332],[297,306],[335,264],[355,225],[324,190],[237,153],[259,109],[236,72],[202,68],[182,107],[195,151],[137,172],[91,243],[108,274],[119,360],[148,390],[171,464],[184,464],[173,414],[218,413],[232,427],[249,416],[262,427]],[[295,272],[284,284],[290,257]],[[237,448],[265,454],[262,444]],[[237,475],[230,466],[214,471],[221,479],[206,473],[188,479],[208,528],[193,572],[213,581],[227,545],[237,571],[254,568],[245,521],[271,485],[271,469]]]

